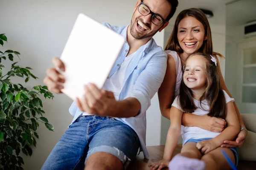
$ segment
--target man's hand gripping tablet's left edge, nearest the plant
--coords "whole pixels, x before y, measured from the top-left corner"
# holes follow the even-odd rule
[[[47,69],[47,76],[44,78],[44,84],[47,85],[48,90],[54,93],[61,93],[64,76],[58,70],[65,71],[64,63],[57,57],[52,59],[54,68]]]

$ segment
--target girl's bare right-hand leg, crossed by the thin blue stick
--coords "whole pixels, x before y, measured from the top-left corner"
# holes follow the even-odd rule
[[[231,149],[225,147],[218,147],[215,150],[202,156],[201,160],[206,163],[206,170],[231,170],[230,165],[221,153],[224,150],[230,157],[233,164],[235,164],[235,156]]]

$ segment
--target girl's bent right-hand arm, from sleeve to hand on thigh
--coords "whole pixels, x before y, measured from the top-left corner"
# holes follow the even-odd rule
[[[215,138],[198,142],[196,145],[197,148],[201,150],[201,152],[204,154],[209,153],[210,151],[216,149],[217,147],[220,147],[225,140],[235,139],[235,137],[240,131],[239,120],[236,115],[236,110],[233,105],[233,102],[230,101],[226,105],[227,105],[227,116],[226,116],[227,128],[225,128],[221,132],[221,134],[219,134]]]

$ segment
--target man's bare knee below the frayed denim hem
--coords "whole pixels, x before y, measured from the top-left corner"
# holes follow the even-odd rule
[[[123,165],[120,159],[110,153],[93,153],[85,164],[84,170],[122,170]]]

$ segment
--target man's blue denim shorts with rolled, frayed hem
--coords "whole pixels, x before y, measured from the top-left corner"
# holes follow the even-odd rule
[[[55,145],[41,169],[83,170],[87,158],[96,152],[116,156],[126,168],[139,147],[137,134],[123,122],[96,115],[80,116]]]

